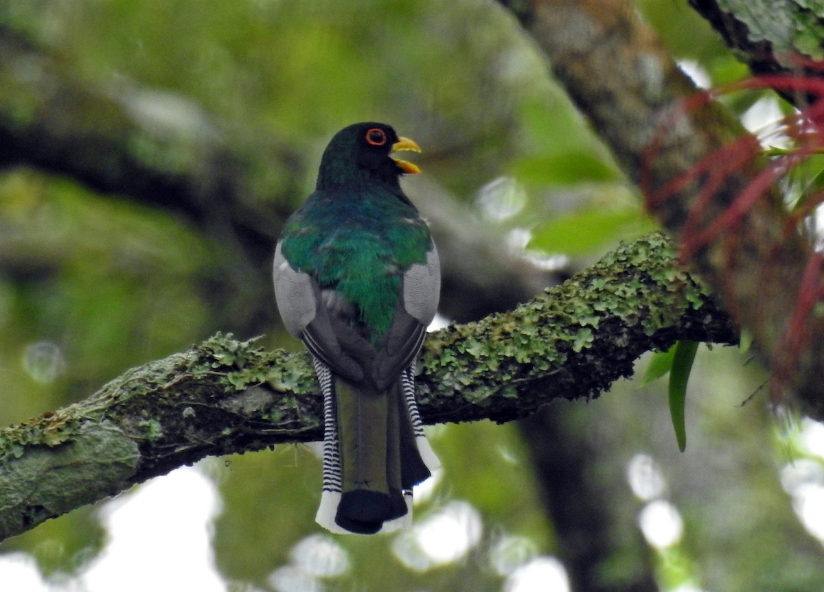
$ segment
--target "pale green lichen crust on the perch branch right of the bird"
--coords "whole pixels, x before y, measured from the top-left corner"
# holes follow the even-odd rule
[[[513,381],[562,371],[570,356],[585,355],[598,340],[620,347],[615,340],[628,339],[630,329],[650,336],[671,327],[704,298],[702,288],[677,267],[672,241],[655,233],[620,245],[516,310],[430,334],[423,364],[446,387],[439,393],[452,388],[483,403]],[[605,330],[606,319],[629,329]],[[588,363],[596,365],[597,357]],[[471,393],[463,389],[468,384]]]

